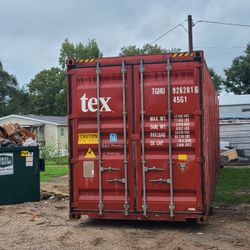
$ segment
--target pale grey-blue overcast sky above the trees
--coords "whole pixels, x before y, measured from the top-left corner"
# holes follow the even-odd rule
[[[60,45],[95,38],[104,56],[124,45],[150,43],[187,15],[198,20],[250,24],[249,0],[0,0],[0,61],[19,84],[58,66]],[[209,67],[222,74],[243,54],[250,28],[197,23],[194,48],[205,51]],[[178,27],[157,42],[187,51],[187,33]]]

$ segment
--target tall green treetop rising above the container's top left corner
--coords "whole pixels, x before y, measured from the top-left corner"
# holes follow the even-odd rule
[[[68,38],[64,40],[60,49],[59,65],[62,69],[66,68],[66,60],[74,59],[89,59],[102,57],[102,53],[95,39],[91,39],[85,45],[81,42],[73,44]]]

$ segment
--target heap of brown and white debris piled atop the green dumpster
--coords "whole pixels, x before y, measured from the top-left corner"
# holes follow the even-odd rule
[[[35,135],[18,123],[0,126],[0,147],[37,146]]]

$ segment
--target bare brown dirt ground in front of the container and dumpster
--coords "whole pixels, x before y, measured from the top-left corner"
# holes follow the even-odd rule
[[[250,204],[217,207],[206,225],[68,220],[68,200],[0,206],[0,249],[248,249]]]

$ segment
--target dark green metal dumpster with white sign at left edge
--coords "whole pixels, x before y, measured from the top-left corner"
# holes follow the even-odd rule
[[[40,167],[38,146],[1,147],[0,205],[39,201]]]

